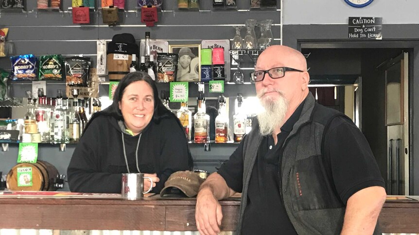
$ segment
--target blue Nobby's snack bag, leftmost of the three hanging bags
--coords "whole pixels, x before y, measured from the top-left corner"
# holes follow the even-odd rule
[[[38,59],[32,55],[10,57],[13,80],[37,80]]]

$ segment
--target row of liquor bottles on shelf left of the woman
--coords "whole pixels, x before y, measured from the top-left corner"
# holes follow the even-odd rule
[[[24,116],[21,142],[76,143],[90,115],[101,110],[98,99],[77,99],[77,89],[72,90],[72,100],[63,98],[61,90],[57,91],[56,98],[47,98],[41,88],[37,99],[31,91],[27,94],[28,111]],[[89,110],[89,102],[92,110]]]

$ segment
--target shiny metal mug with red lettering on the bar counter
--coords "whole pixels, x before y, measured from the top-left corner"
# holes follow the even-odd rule
[[[150,188],[143,192],[144,179],[151,182]],[[144,193],[148,193],[153,189],[153,180],[150,177],[144,177],[144,173],[124,173],[122,174],[122,198],[128,200],[138,200],[144,197]]]

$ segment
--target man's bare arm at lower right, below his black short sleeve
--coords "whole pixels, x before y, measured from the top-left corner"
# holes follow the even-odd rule
[[[385,189],[378,186],[354,193],[347,203],[341,235],[373,234],[385,196]]]

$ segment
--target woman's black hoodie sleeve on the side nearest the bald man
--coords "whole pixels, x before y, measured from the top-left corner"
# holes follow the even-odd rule
[[[159,150],[160,172],[157,172],[160,182],[152,190],[155,193],[159,193],[164,188],[164,182],[173,172],[190,169],[188,141],[182,127],[172,118],[161,120],[160,125],[162,141]]]

